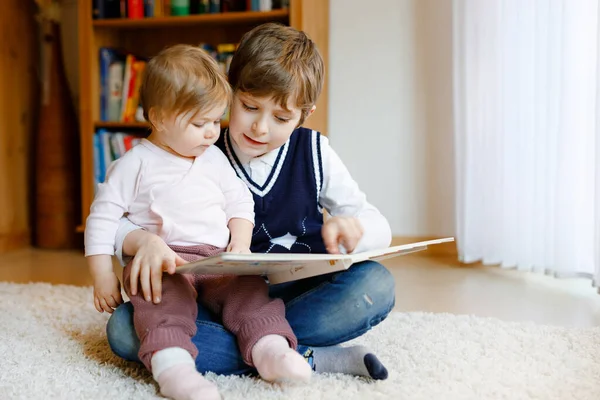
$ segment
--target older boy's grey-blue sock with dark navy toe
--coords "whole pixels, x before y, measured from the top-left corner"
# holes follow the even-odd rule
[[[304,353],[315,372],[332,372],[368,378],[387,379],[387,369],[368,348],[354,347],[312,347]]]

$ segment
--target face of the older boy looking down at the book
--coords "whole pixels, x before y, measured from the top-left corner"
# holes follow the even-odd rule
[[[229,117],[229,134],[247,156],[259,157],[285,144],[302,111],[288,99],[287,110],[269,97],[237,91]]]

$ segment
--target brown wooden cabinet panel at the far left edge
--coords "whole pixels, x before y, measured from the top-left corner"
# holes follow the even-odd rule
[[[31,140],[39,101],[34,3],[0,2],[0,253],[31,240]]]

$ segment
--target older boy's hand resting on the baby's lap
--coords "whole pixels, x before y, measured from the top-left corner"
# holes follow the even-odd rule
[[[160,237],[146,233],[138,243],[135,257],[131,264],[129,283],[131,294],[138,293],[138,282],[146,301],[160,303],[162,293],[162,274],[175,273],[175,268],[186,264]]]

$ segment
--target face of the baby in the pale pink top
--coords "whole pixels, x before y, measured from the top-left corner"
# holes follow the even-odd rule
[[[169,116],[155,137],[162,147],[183,157],[198,157],[219,138],[225,105],[194,115],[189,122],[182,116]]]

